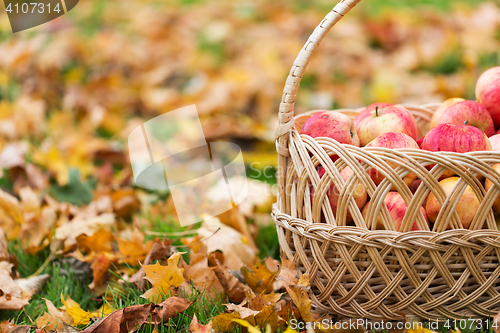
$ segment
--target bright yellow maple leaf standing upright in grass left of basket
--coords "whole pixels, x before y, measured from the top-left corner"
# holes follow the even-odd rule
[[[184,282],[184,269],[179,268],[179,260],[184,252],[172,254],[168,258],[167,266],[158,262],[154,265],[145,265],[146,279],[151,282],[153,288],[146,291],[141,297],[150,302],[159,302],[171,291],[172,287],[178,287]]]

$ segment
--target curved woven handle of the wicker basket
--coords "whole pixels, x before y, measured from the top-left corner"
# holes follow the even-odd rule
[[[276,139],[279,139],[294,125],[293,111],[295,106],[295,97],[299,88],[300,80],[304,71],[306,70],[309,59],[312,54],[323,40],[323,37],[330,31],[330,29],[340,19],[347,14],[359,1],[361,0],[342,0],[340,1],[331,12],[329,12],[321,23],[314,29],[313,33],[307,39],[307,42],[300,50],[299,55],[293,62],[290,74],[286,79],[285,89],[283,89],[283,96],[278,113],[279,127],[276,130]]]

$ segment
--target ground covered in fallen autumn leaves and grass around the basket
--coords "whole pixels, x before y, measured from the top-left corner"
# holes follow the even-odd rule
[[[473,98],[500,63],[500,5],[416,3],[361,2],[311,61],[297,112]],[[269,213],[284,80],[332,6],[86,0],[15,35],[0,10],[0,331],[293,332],[291,318],[320,320]],[[243,148],[251,193],[181,228],[168,191],[134,186],[126,144],[190,104],[207,140]]]

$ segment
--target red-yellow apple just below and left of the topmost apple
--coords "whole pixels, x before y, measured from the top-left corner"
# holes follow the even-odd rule
[[[490,113],[481,104],[474,101],[462,101],[454,103],[443,111],[439,117],[439,124],[468,125],[479,128],[487,136],[495,134],[495,126]]]

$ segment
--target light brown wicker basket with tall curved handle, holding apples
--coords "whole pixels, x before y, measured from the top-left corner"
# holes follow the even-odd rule
[[[500,194],[500,174],[491,168],[500,163],[499,153],[357,148],[300,135],[301,126],[314,113],[293,115],[309,58],[324,35],[357,2],[342,1],[325,17],[300,51],[286,81],[276,132],[279,194],[273,208],[282,255],[310,275],[316,309],[339,317],[401,320],[412,315],[439,320],[492,316],[500,309],[500,231],[491,208]],[[405,106],[425,134],[436,105]],[[338,111],[353,118],[361,110]],[[340,158],[332,162],[334,154]],[[386,162],[399,166],[393,169]],[[433,164],[432,170],[426,168]],[[320,165],[327,170],[321,179]],[[353,170],[346,182],[339,173],[345,166]],[[373,167],[385,176],[378,186],[366,172]],[[448,169],[461,179],[446,197],[438,179]],[[409,172],[422,180],[414,195],[402,181]],[[494,184],[488,192],[482,177]],[[336,217],[326,196],[332,182],[340,190]],[[366,219],[350,195],[358,182],[374,203]],[[467,185],[481,205],[469,229],[462,229],[455,207]],[[408,204],[401,232],[394,230],[383,203],[391,188]],[[419,209],[430,191],[442,203],[433,230]],[[346,225],[348,208],[352,226]],[[375,230],[379,217],[386,230]],[[414,221],[421,231],[410,231]]]

